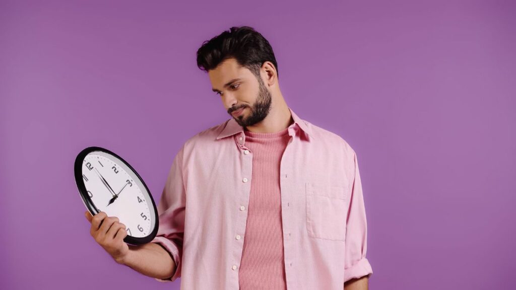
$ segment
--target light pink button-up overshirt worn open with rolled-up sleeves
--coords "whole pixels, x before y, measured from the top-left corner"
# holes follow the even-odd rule
[[[340,289],[373,273],[357,155],[340,136],[294,123],[280,163],[281,217],[289,290]],[[253,154],[233,119],[188,139],[175,155],[157,205],[163,246],[181,289],[238,289]],[[242,238],[236,239],[235,236]]]

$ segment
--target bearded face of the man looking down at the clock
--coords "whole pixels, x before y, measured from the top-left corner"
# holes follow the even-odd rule
[[[252,126],[267,117],[272,95],[261,77],[256,79],[249,69],[239,67],[234,58],[224,60],[217,68],[209,70],[208,75],[228,114],[240,126]],[[240,115],[231,114],[240,108],[243,108]]]

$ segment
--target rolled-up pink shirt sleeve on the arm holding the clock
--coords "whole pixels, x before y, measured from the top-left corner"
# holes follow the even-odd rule
[[[176,269],[172,277],[155,280],[172,282],[181,277],[181,259],[183,256],[183,234],[185,224],[186,192],[183,179],[184,146],[175,155],[172,167],[165,183],[157,207],[159,228],[151,243],[162,246],[175,262]]]

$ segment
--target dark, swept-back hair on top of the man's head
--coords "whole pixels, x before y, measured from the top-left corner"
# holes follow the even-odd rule
[[[276,68],[278,63],[267,39],[250,26],[233,26],[220,35],[206,40],[197,50],[197,66],[203,71],[215,69],[222,61],[234,58],[238,65],[249,69],[260,78],[260,68],[270,61]]]

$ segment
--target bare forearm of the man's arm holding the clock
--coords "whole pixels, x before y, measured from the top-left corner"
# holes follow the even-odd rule
[[[120,264],[131,267],[145,276],[158,279],[170,278],[175,272],[175,263],[170,254],[156,243],[141,246],[129,245],[129,253]]]

